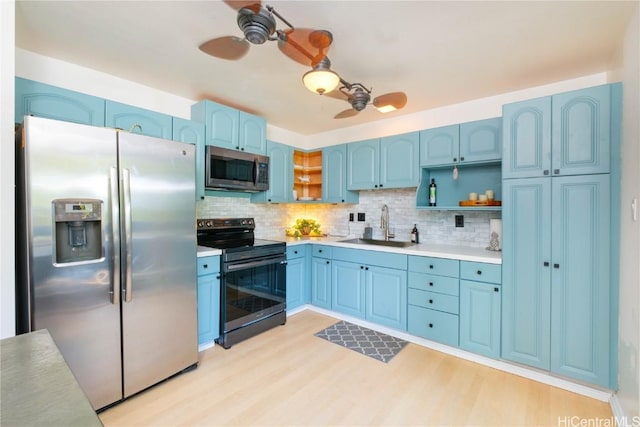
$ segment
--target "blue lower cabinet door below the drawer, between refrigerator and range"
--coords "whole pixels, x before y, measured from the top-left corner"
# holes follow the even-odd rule
[[[220,275],[198,276],[198,344],[212,343],[220,335]]]

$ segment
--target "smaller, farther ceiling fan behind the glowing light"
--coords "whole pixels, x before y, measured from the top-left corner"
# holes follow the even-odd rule
[[[371,100],[371,89],[367,89],[362,83],[349,83],[340,78],[340,89],[328,92],[326,96],[347,101],[351,108],[336,114],[334,119],[346,119],[357,115],[369,104],[372,104],[381,113],[399,110],[407,104],[407,95],[404,92],[389,92],[376,96]]]

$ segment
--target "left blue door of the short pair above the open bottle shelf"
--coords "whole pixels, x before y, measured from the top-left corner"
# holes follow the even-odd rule
[[[453,164],[459,157],[459,125],[420,131],[420,166]]]

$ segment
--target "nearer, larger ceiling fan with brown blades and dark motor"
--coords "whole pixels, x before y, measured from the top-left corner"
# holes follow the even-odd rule
[[[327,55],[333,35],[326,30],[294,28],[275,9],[263,6],[260,0],[225,0],[238,11],[238,27],[244,37],[223,36],[211,39],[199,46],[200,50],[216,58],[237,60],[249,52],[252,44],[277,41],[278,49],[303,65],[316,66]],[[276,18],[289,28],[277,29]]]

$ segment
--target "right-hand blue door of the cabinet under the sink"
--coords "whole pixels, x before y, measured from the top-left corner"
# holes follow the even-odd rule
[[[407,272],[393,268],[365,270],[366,319],[407,330]]]

